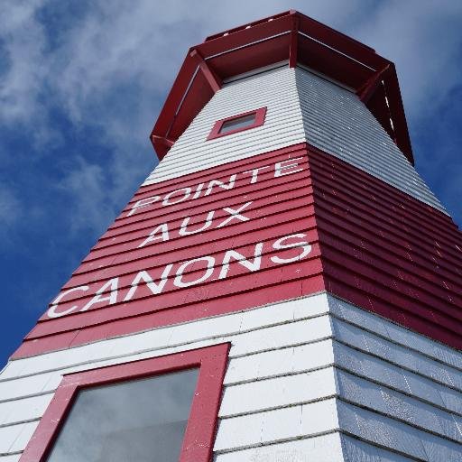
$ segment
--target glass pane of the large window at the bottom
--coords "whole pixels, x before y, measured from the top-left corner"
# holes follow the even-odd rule
[[[81,391],[48,462],[178,462],[198,372]]]

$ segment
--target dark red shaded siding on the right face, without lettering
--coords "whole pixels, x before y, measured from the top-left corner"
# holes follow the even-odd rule
[[[461,348],[462,235],[451,218],[311,151],[327,291]]]

